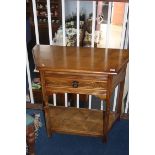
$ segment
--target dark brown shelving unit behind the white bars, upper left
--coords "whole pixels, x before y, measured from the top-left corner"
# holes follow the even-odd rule
[[[52,21],[52,37],[54,37],[61,25],[61,0],[50,0],[51,21]],[[39,28],[40,44],[49,44],[48,34],[48,17],[47,17],[47,1],[36,0],[37,19]],[[32,37],[35,40],[35,28],[33,21],[32,0],[26,2],[27,15],[31,20]]]

